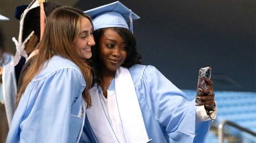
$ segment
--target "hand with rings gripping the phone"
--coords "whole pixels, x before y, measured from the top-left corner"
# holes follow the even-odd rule
[[[205,78],[207,85],[209,86],[208,89],[198,89],[202,93],[201,95],[197,96],[196,98],[200,99],[201,103],[199,106],[204,105],[205,109],[210,111],[213,109],[214,106],[214,91],[213,91],[213,82],[212,80]]]

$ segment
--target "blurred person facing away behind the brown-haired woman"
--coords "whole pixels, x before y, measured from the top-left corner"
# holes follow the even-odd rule
[[[3,68],[3,90],[5,90],[3,96],[9,127],[13,119],[16,94],[22,84],[23,73],[30,66],[40,41],[40,7],[37,1],[33,2],[30,5],[17,6],[15,9],[15,18],[20,19],[18,41],[13,38],[16,54],[14,61]],[[43,5],[46,17],[54,8],[60,6],[53,2],[44,2]]]

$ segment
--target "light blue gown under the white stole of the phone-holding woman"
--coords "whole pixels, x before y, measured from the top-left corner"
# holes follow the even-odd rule
[[[196,118],[195,100],[188,101],[185,93],[153,66],[137,64],[129,71],[151,143],[206,141],[210,121]],[[114,81],[109,90],[114,90]],[[91,142],[98,142],[86,118],[80,142],[88,140],[88,136]]]

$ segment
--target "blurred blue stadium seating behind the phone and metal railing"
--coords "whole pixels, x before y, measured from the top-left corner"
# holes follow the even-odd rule
[[[195,99],[196,90],[183,90],[187,97]],[[230,120],[242,127],[256,132],[256,93],[255,92],[226,92],[215,91],[215,101],[218,112],[216,122]],[[240,133],[243,136],[243,142],[256,143],[256,137]],[[207,143],[218,142],[213,139],[215,135],[209,133]]]

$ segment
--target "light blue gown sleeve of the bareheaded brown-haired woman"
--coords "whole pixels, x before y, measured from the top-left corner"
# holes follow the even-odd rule
[[[7,142],[68,142],[71,105],[82,75],[64,68],[32,80],[15,111]]]

